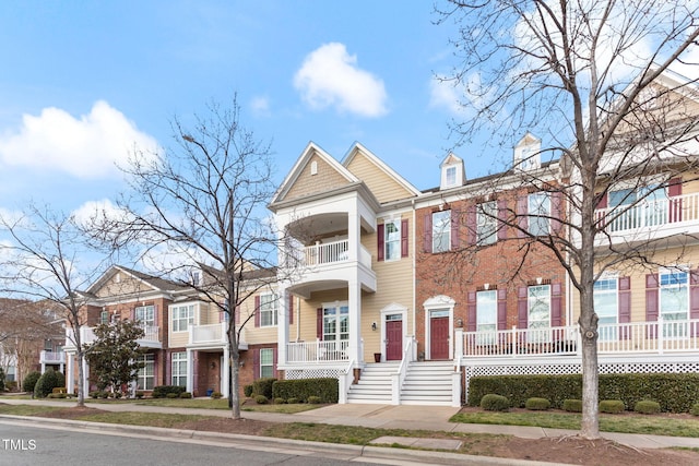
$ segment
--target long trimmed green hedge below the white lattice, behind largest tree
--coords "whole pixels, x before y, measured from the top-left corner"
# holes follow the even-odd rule
[[[488,393],[506,396],[513,407],[541,397],[552,407],[562,408],[566,399],[582,398],[582,375],[474,377],[469,383],[470,406],[478,406]],[[664,413],[689,413],[699,402],[698,373],[645,373],[600,375],[599,399],[620,399],[632,408],[643,399],[654,399]]]

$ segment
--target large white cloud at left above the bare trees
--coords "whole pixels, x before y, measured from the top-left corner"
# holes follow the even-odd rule
[[[154,138],[99,100],[80,118],[56,107],[39,116],[24,115],[16,132],[0,136],[0,162],[83,179],[105,178],[118,172],[117,165],[126,165],[134,146],[157,151]]]

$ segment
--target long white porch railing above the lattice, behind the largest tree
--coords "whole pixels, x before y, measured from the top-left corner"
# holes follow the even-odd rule
[[[699,351],[699,320],[601,324],[599,354],[656,354]],[[580,355],[578,325],[463,332],[464,358]],[[457,346],[457,354],[459,340]]]

